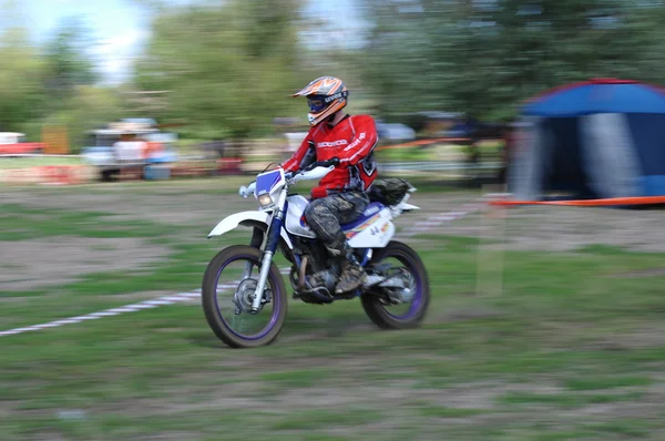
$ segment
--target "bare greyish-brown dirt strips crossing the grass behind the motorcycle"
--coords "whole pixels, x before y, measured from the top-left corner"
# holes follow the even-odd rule
[[[102,219],[143,221],[185,227],[183,242],[205,240],[224,216],[254,209],[252,199],[218,195],[217,181],[165,183],[137,187],[108,184],[95,187],[18,189],[4,192],[8,204],[33,209],[71,209],[109,213]],[[139,188],[139,191],[137,191]],[[442,213],[468,211],[480,194],[413,194],[411,203],[422,208],[396,221],[409,228]],[[478,208],[478,207],[475,207]],[[571,252],[585,245],[605,244],[641,252],[665,253],[663,212],[608,208],[521,207],[509,212],[505,223],[508,249]],[[483,218],[479,212],[452,222],[430,226],[429,233],[477,237],[499,237],[501,221]],[[427,244],[418,236],[403,240]],[[123,270],[157,263],[170,254],[167,246],[139,238],[83,238],[76,236],[34,238],[0,243],[2,276],[0,290],[27,290],[61,285],[76,276],[99,270]]]

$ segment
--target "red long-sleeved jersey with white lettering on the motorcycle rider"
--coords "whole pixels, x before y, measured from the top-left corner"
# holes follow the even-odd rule
[[[374,148],[379,135],[369,115],[346,116],[332,129],[326,123],[309,130],[294,155],[283,164],[286,172],[304,168],[315,161],[339,158],[339,165],[311,191],[311,197],[366,191],[377,177]]]

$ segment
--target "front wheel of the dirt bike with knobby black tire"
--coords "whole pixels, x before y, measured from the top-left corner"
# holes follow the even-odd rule
[[[262,257],[255,247],[233,245],[211,260],[203,276],[201,295],[205,318],[215,336],[232,348],[269,345],[286,320],[286,288],[274,263],[270,263],[262,308],[256,314],[249,312]]]

